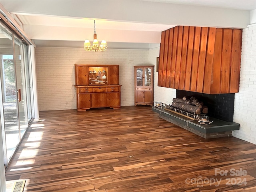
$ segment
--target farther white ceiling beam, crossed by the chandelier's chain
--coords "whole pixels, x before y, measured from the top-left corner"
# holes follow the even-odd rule
[[[23,29],[31,39],[40,40],[93,41],[94,34],[91,28],[23,25]],[[96,34],[99,42],[106,40],[107,42],[160,43],[161,41],[161,32],[155,31],[97,29]]]

